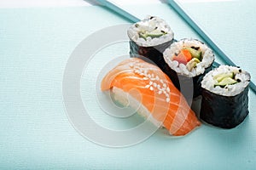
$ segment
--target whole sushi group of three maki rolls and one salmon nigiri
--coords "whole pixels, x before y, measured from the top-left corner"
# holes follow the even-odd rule
[[[233,128],[248,115],[250,74],[239,67],[214,63],[214,53],[193,38],[174,39],[165,20],[148,16],[127,31],[130,58],[102,79],[121,105],[137,108],[138,115],[161,125],[173,136],[183,136],[201,122]],[[189,101],[201,98],[195,113]]]

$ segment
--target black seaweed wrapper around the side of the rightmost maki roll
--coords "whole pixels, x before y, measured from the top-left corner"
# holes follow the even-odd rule
[[[215,127],[234,128],[247,117],[249,86],[235,96],[214,94],[201,88],[200,119]]]

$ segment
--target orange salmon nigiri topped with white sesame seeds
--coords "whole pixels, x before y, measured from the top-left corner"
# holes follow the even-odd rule
[[[151,122],[162,123],[174,136],[185,135],[201,125],[170,78],[143,59],[130,58],[119,63],[102,79],[101,88],[102,91],[111,89],[114,98],[123,105],[127,104],[124,98],[130,96],[129,99],[143,105],[138,114],[149,113],[153,117]]]

